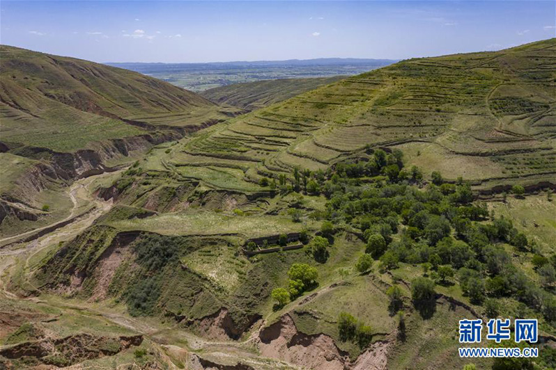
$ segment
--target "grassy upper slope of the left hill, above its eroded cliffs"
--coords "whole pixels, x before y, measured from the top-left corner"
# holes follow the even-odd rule
[[[126,124],[187,127],[226,115],[207,99],[136,72],[1,46],[2,140],[60,152],[146,134]]]

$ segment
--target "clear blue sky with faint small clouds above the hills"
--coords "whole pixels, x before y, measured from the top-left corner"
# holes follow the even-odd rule
[[[2,1],[0,42],[97,62],[392,58],[556,36],[556,1]]]

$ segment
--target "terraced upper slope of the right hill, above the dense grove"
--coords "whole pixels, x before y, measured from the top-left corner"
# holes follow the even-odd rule
[[[556,177],[555,78],[556,39],[411,59],[203,131],[169,163],[240,166],[258,182],[388,146],[412,154],[426,175],[532,185]]]

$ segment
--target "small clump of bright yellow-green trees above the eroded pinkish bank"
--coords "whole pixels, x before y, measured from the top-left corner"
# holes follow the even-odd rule
[[[304,291],[316,286],[318,271],[308,264],[293,264],[288,270],[288,287],[272,289],[272,299],[277,301],[277,307],[284,307],[290,300],[298,298]]]

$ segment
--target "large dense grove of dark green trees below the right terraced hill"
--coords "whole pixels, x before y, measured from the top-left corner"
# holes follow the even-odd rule
[[[470,300],[484,304],[486,310],[493,310],[495,298],[513,297],[556,322],[556,299],[550,293],[556,282],[555,255],[536,251],[532,263],[543,283],[539,287],[501,246],[509,243],[520,252],[530,252],[535,251],[534,243],[511,220],[495,217],[484,204],[474,203],[463,179],[449,184],[439,172],[431,177],[424,188],[412,186],[422,180],[418,168],[403,168],[401,152],[375,150],[368,159],[337,163],[324,177],[311,175],[307,184],[314,180],[318,186],[313,193],[328,199],[320,216],[362,230],[365,253],[378,259],[381,269],[396,268],[401,262],[421,264],[431,278],[426,280],[428,287],[458,282]],[[362,260],[355,268],[363,272],[371,265]],[[423,287],[425,281],[418,284]],[[414,303],[427,307],[426,300]]]

